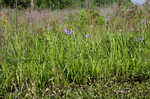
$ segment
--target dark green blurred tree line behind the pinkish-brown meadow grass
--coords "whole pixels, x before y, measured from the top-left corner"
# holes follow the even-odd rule
[[[52,9],[63,9],[74,6],[90,6],[90,5],[107,5],[112,4],[118,0],[0,0],[1,7],[16,7],[20,8],[52,8]]]

